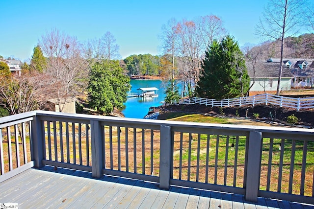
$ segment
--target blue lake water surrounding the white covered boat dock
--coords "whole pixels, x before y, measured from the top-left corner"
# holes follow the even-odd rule
[[[150,107],[157,107],[159,102],[165,99],[165,89],[161,80],[131,80],[131,92],[137,93],[139,88],[156,87],[159,89],[157,97],[131,97],[126,101],[126,108],[122,113],[126,117],[143,118],[147,115]]]

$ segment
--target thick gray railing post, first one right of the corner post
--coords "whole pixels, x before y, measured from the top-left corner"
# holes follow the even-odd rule
[[[91,143],[92,143],[92,177],[101,178],[103,176],[103,141],[104,135],[100,122],[91,120]]]

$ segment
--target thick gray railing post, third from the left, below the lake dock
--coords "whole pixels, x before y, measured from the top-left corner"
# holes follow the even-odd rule
[[[171,176],[171,127],[160,126],[159,187],[169,189]]]

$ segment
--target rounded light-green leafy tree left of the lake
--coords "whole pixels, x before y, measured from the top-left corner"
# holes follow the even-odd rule
[[[130,90],[130,79],[123,75],[118,61],[96,62],[90,71],[88,100],[91,108],[109,114],[123,107]]]

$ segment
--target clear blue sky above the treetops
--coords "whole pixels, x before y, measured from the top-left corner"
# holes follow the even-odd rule
[[[4,2],[3,2],[4,1]],[[57,28],[79,41],[110,31],[122,58],[161,54],[158,35],[171,18],[216,15],[240,46],[259,44],[255,26],[267,0],[1,0],[0,55],[26,61],[47,31]]]

